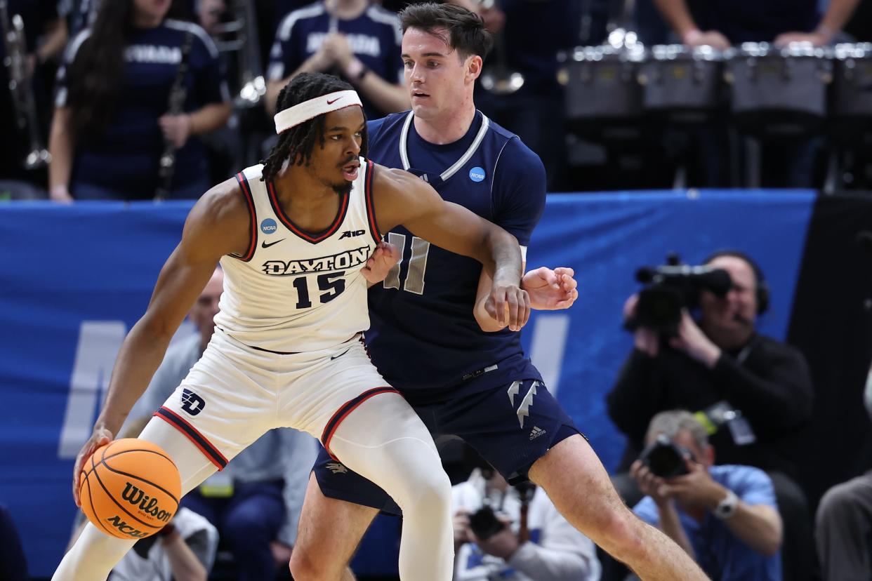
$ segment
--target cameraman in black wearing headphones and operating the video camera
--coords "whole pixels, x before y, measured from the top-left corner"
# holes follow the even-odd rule
[[[628,436],[619,472],[642,449],[657,412],[684,408],[705,422],[719,462],[766,470],[786,525],[785,578],[808,578],[814,555],[804,493],[794,482],[801,450],[797,435],[811,417],[813,394],[805,358],[795,348],[757,334],[754,320],[768,307],[760,267],[744,253],[715,253],[705,264],[723,269],[732,286],[719,298],[701,290],[697,323],[686,311],[672,336],[634,331],[633,352],[607,397],[609,415]],[[636,313],[630,297],[625,315]],[[625,474],[614,477],[625,501],[638,498]]]

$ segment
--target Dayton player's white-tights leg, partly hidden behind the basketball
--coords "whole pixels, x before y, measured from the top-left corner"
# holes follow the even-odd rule
[[[163,420],[153,418],[142,431],[140,438],[158,444],[173,458],[181,475],[183,495],[216,470],[215,464],[211,463],[200,449]],[[135,540],[126,541],[109,537],[93,524],[88,523],[58,565],[52,580],[104,581],[109,576],[109,571],[112,571],[112,567],[135,543]]]

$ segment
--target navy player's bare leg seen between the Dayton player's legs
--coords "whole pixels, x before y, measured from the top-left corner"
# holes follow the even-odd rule
[[[315,475],[309,479],[290,572],[295,579],[349,581],[347,564],[378,510],[325,497]]]

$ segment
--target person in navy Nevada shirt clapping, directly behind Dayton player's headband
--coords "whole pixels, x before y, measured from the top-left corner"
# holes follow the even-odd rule
[[[357,89],[367,118],[405,111],[399,18],[369,0],[323,0],[294,10],[276,30],[269,55],[266,107],[301,72],[326,72]]]

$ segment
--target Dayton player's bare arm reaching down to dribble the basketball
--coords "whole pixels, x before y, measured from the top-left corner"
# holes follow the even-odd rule
[[[92,436],[76,456],[72,496],[77,506],[81,505],[78,474],[85,460],[118,433],[221,256],[246,252],[249,221],[249,210],[235,179],[209,190],[188,214],[181,242],[160,270],[146,314],[121,343],[106,402]]]

